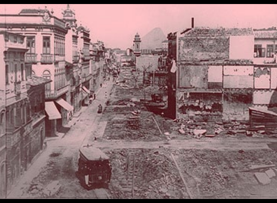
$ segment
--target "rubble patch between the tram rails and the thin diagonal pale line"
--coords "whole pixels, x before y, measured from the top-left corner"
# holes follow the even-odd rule
[[[183,198],[183,182],[178,174],[170,153],[165,149],[145,150],[136,163],[138,180],[137,196],[143,198]]]

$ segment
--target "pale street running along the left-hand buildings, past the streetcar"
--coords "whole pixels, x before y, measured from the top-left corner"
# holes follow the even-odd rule
[[[103,86],[93,103],[82,109],[79,121],[72,126],[63,138],[50,140],[47,142],[47,149],[35,161],[30,169],[24,174],[23,178],[10,192],[8,198],[36,198],[45,197],[38,192],[31,194],[30,187],[39,185],[45,188],[51,181],[60,181],[62,185],[59,192],[59,198],[103,198],[108,197],[105,190],[87,191],[81,187],[75,172],[78,169],[79,148],[87,145],[86,139],[89,139],[95,130],[94,126],[99,125],[101,114],[97,113],[98,105],[105,103],[105,93],[108,95],[113,87],[112,83]],[[94,137],[93,137],[94,138]]]

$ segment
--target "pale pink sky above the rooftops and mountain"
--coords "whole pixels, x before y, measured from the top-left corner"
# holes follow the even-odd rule
[[[0,5],[0,13],[17,14],[21,9],[45,6],[57,17],[64,4]],[[130,47],[136,32],[146,35],[156,27],[164,33],[190,27],[191,17],[199,27],[277,27],[277,5],[103,5],[72,4],[76,16],[91,30],[93,41],[102,40],[108,47]]]

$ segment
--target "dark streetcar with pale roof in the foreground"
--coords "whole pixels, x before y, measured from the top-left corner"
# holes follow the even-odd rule
[[[90,190],[107,187],[111,180],[112,167],[109,157],[98,148],[84,146],[80,150],[78,176],[81,185]]]

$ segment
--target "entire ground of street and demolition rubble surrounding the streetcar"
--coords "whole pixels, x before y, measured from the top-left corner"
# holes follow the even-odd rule
[[[119,80],[124,73],[129,77],[126,70]],[[131,79],[124,85],[108,83],[65,137],[48,143],[10,198],[48,198],[44,188],[53,181],[60,184],[53,198],[277,197],[274,177],[261,185],[254,172],[243,172],[254,165],[277,164],[274,136],[230,132],[247,123],[176,122],[149,112],[143,97]],[[97,114],[99,103],[106,104],[103,114]],[[219,128],[216,137],[205,137]],[[194,130],[203,129],[207,132],[195,135]],[[76,177],[78,149],[87,144],[111,159],[108,188],[88,191]]]

